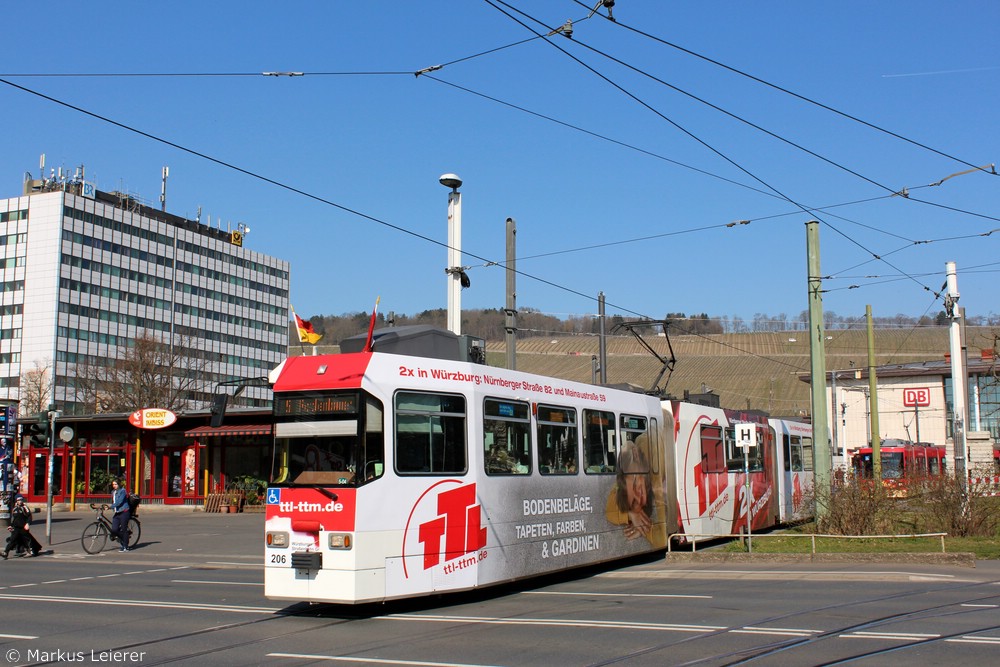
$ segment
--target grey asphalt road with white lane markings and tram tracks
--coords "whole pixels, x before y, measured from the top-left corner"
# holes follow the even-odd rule
[[[43,543],[44,515],[34,530]],[[41,520],[38,520],[40,517]],[[0,561],[0,665],[992,664],[1000,563],[668,563],[364,607],[263,597],[263,516],[147,510],[138,548]]]

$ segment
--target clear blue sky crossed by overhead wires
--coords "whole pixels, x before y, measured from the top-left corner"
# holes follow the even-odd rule
[[[446,307],[445,172],[463,307],[503,307],[513,217],[520,308],[794,319],[816,218],[827,311],[933,315],[955,261],[968,314],[1000,312],[1000,177],[926,187],[1000,162],[1000,3],[585,5],[7,3],[0,196],[44,153],[158,205],[169,166],[168,210],[249,225],[305,316]],[[69,73],[202,76],[23,76]]]

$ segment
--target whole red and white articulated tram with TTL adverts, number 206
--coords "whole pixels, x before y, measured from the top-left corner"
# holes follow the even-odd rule
[[[272,599],[471,589],[779,517],[759,415],[747,498],[717,408],[384,351],[291,357],[273,388]]]

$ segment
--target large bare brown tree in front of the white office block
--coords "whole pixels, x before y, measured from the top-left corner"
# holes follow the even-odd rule
[[[190,340],[170,345],[143,331],[120,358],[77,364],[77,397],[95,412],[176,412],[190,407],[194,394],[206,391],[207,368],[205,353],[194,349]]]

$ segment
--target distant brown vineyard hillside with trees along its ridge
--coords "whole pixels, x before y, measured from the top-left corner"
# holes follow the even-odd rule
[[[317,352],[338,352],[342,338],[364,333],[371,314],[361,317],[323,318],[326,329]],[[519,329],[525,331],[517,339],[517,369],[530,373],[560,377],[580,382],[590,382],[593,362],[599,351],[596,331],[590,331],[594,321],[586,322],[587,330],[579,331],[581,322],[560,321],[538,313],[533,318],[518,315]],[[898,319],[893,318],[893,319]],[[498,319],[499,318],[499,319]],[[438,321],[438,319],[440,321]],[[610,319],[610,318],[609,318]],[[619,318],[620,319],[620,318]],[[499,321],[499,328],[495,322]],[[317,322],[313,326],[321,331]],[[483,329],[484,323],[490,325]],[[503,313],[495,311],[463,312],[463,333],[485,338],[487,363],[491,366],[506,364],[506,345],[503,333]],[[336,326],[334,326],[336,323]],[[433,324],[445,326],[444,310],[421,313],[419,318],[397,318],[396,325]],[[528,326],[533,323],[538,326]],[[480,328],[474,328],[477,324]],[[683,323],[683,324],[686,324]],[[386,326],[381,320],[376,328]],[[678,328],[682,323],[678,323]],[[596,327],[595,327],[596,328]],[[607,331],[613,326],[608,325]],[[671,331],[674,327],[671,327]],[[330,336],[343,330],[345,334]],[[482,331],[488,331],[484,335]],[[980,349],[993,349],[1000,327],[969,326],[966,328],[970,356],[978,356]],[[849,370],[868,365],[868,340],[864,328],[829,328],[826,332],[826,368]],[[643,334],[643,339],[661,356],[670,355],[667,340],[655,330]],[[677,397],[685,391],[692,393],[711,389],[719,394],[726,407],[748,407],[765,410],[773,415],[805,415],[810,410],[809,385],[798,379],[809,371],[809,341],[805,331],[773,331],[757,333],[671,334],[670,344],[676,357],[673,373],[663,376],[660,387]],[[305,346],[310,348],[311,346]],[[949,327],[911,326],[909,328],[876,328],[875,357],[877,365],[934,361],[949,352]],[[290,353],[302,354],[297,342]],[[311,353],[306,350],[305,353]],[[660,372],[661,364],[643,346],[628,334],[609,335],[607,338],[609,384],[630,383],[649,389]],[[852,365],[853,364],[853,365]]]

